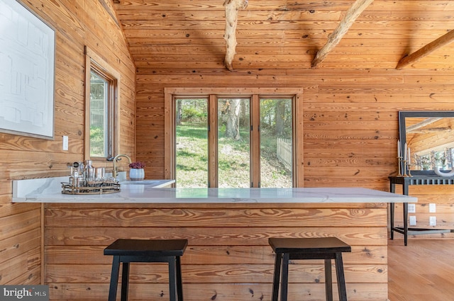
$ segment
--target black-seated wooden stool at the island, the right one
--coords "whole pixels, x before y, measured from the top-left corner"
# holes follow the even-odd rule
[[[272,284],[272,301],[279,295],[279,276],[281,278],[281,300],[287,301],[289,284],[289,260],[324,259],[326,300],[333,300],[333,280],[331,278],[331,259],[336,263],[338,293],[340,301],[347,301],[345,276],[343,274],[342,253],[351,252],[351,247],[336,237],[321,238],[270,238],[270,246],[276,254],[275,276]],[[281,276],[282,268],[282,276]]]

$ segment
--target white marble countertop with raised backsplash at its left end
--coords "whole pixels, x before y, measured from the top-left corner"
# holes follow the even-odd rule
[[[65,178],[64,178],[65,179]],[[25,181],[25,182],[24,182]],[[26,182],[28,181],[28,182]],[[64,182],[65,180],[63,180]],[[417,198],[367,188],[158,188],[174,180],[121,182],[104,195],[62,194],[62,178],[13,181],[15,203],[416,203]],[[33,185],[32,185],[33,183]]]

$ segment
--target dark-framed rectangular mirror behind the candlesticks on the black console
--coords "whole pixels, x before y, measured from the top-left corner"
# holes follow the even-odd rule
[[[453,169],[454,111],[400,111],[399,139],[401,154],[410,153],[412,176]]]

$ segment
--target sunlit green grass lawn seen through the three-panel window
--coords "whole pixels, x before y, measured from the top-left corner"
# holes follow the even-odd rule
[[[249,131],[240,140],[218,138],[219,187],[250,187]],[[208,133],[206,125],[177,126],[177,187],[208,187]],[[267,187],[291,187],[290,171],[279,164],[275,140],[262,134],[262,183]],[[273,149],[274,148],[274,149]],[[262,186],[263,187],[263,186]]]

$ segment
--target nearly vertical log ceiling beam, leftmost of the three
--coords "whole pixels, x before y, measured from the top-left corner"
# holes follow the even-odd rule
[[[248,7],[248,0],[226,0],[223,6],[226,7],[226,57],[224,66],[233,71],[233,57],[236,54],[236,25],[238,23],[238,11]]]

